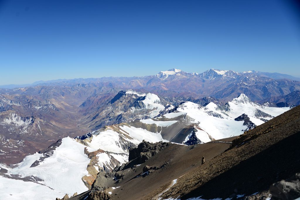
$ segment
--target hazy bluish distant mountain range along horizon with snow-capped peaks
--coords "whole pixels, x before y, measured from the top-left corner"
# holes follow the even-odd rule
[[[157,75],[144,77],[103,77],[50,81],[33,87],[25,87],[24,89],[0,89],[0,93],[22,94],[23,90],[39,90],[42,88],[52,88],[51,90],[53,90],[54,87],[56,89],[59,87],[93,88],[98,86],[105,87],[107,91],[133,89],[155,93],[160,96],[192,97],[195,99],[209,96],[223,99],[226,102],[241,93],[246,94],[253,101],[259,101],[300,90],[300,81],[282,79],[287,78],[288,75],[270,74],[256,71],[238,73],[231,70],[217,69],[209,69],[197,74],[183,72],[179,69],[170,69],[161,71]],[[274,79],[274,77],[280,79]],[[26,93],[30,92],[27,91]],[[98,94],[95,93],[95,95]]]

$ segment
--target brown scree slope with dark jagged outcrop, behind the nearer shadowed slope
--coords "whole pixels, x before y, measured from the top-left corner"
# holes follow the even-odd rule
[[[111,173],[99,173],[91,191],[71,199],[158,198],[178,177],[200,166],[202,156],[210,160],[229,148],[232,139],[195,146],[140,143],[130,151],[132,160]]]

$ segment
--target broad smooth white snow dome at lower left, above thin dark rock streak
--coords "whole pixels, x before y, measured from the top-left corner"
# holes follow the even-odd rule
[[[54,190],[53,193],[73,194],[75,192],[85,192],[88,188],[84,185],[81,178],[88,175],[86,167],[90,159],[84,153],[84,147],[83,144],[76,142],[75,139],[65,137],[53,155],[46,158],[38,166],[30,167],[35,160],[42,156],[42,154],[35,153],[25,157],[23,162],[16,168],[9,169],[8,173],[19,174],[23,177],[35,176],[41,178],[44,181],[38,182],[52,188]],[[41,192],[35,191],[34,193],[42,195]],[[48,197],[44,196],[42,199],[47,199]]]

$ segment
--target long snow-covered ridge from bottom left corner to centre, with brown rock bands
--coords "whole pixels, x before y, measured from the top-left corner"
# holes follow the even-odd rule
[[[87,166],[90,163],[90,158],[84,152],[85,148],[88,152],[98,149],[105,151],[97,153],[98,162],[95,165],[97,171],[99,171],[98,167],[114,169],[116,164],[112,162],[111,157],[120,163],[127,162],[129,151],[124,146],[127,142],[138,145],[143,140],[153,143],[167,141],[161,137],[160,133],[126,125],[118,126],[118,128],[113,125],[111,128],[93,131],[91,137],[84,140],[63,138],[61,145],[53,151],[53,154],[45,158],[38,166],[30,167],[43,155],[35,153],[25,157],[14,168],[5,167],[8,170],[7,175],[34,176],[44,181],[24,182],[0,176],[0,180],[7,187],[13,189],[15,184],[19,185],[19,189],[7,190],[9,192],[5,190],[6,187],[1,187],[0,192],[4,193],[4,196],[12,194],[14,199],[19,199],[22,194],[24,194],[22,199],[32,199],[33,196],[40,199],[55,199],[56,197],[62,198],[66,193],[73,195],[75,192],[85,192],[88,188],[83,183],[82,177],[89,176]]]

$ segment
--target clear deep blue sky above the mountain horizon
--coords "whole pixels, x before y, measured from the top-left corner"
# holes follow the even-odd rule
[[[0,85],[170,68],[300,77],[295,2],[0,0]]]

